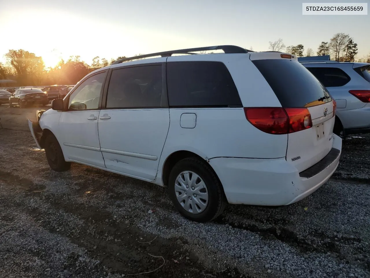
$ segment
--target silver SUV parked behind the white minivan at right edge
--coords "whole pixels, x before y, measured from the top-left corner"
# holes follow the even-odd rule
[[[337,102],[334,133],[370,133],[370,64],[302,61]]]

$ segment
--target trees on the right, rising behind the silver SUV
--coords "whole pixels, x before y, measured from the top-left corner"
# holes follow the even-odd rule
[[[306,52],[304,52],[305,47],[303,44],[285,46],[283,40],[280,38],[274,42],[269,42],[269,50],[285,50],[285,52],[296,55],[297,57],[330,55],[331,60],[338,62],[356,61],[370,63],[370,53],[368,56],[356,60],[356,55],[358,54],[357,43],[353,41],[353,38],[349,34],[344,33],[336,33],[329,41],[321,42],[319,47],[317,47],[316,54],[311,48],[307,48]]]

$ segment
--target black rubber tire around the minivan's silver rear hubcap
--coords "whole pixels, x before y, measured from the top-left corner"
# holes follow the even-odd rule
[[[191,171],[196,173],[203,180],[208,191],[207,206],[202,212],[198,214],[194,214],[184,209],[176,198],[176,178],[180,173],[184,171]],[[216,174],[213,172],[212,168],[206,162],[193,157],[180,160],[171,169],[168,179],[168,193],[169,198],[171,199],[175,208],[185,218],[196,222],[212,221],[222,214],[227,204],[221,182],[219,181]]]

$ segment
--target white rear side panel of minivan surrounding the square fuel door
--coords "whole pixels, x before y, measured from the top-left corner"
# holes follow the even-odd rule
[[[252,126],[243,108],[171,108],[168,136],[161,156],[188,150],[203,158],[281,158],[286,155],[287,135],[272,135]],[[181,128],[182,113],[195,113],[195,128]],[[161,169],[161,168],[159,168]]]

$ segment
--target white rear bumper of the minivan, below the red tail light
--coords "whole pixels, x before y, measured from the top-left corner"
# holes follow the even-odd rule
[[[336,154],[329,153],[330,157],[326,156],[311,167],[316,169],[307,169],[310,173],[299,173],[285,158],[214,158],[209,163],[229,203],[289,205],[316,191],[332,176],[342,151],[342,139],[336,135],[333,135],[333,148]]]

